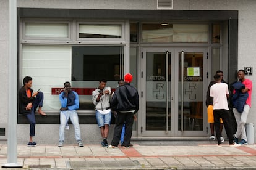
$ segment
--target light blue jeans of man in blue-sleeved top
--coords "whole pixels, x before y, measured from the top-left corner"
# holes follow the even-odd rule
[[[65,138],[65,126],[66,126],[67,122],[69,121],[69,118],[70,118],[70,121],[72,122],[72,124],[74,126],[74,129],[75,129],[75,140],[77,140],[77,142],[82,141],[77,111],[75,111],[75,110],[64,110],[64,111],[61,111],[61,113],[60,113],[61,124],[59,126],[59,142],[64,142],[65,141],[64,140],[64,138]]]

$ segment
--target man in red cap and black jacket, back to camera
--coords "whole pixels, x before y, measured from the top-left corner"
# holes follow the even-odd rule
[[[132,75],[127,73],[124,75],[124,86],[120,86],[114,92],[110,102],[111,110],[116,111],[116,126],[114,128],[114,136],[109,145],[110,148],[117,148],[122,133],[122,127],[126,123],[124,132],[123,148],[129,148],[130,139],[132,137],[132,124],[134,123],[134,114],[139,110],[139,95],[135,87],[130,86]]]

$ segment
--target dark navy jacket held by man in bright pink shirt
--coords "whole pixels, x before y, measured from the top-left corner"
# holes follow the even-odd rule
[[[249,94],[248,92],[241,92],[241,89],[245,88],[241,81],[237,81],[232,86],[235,91],[234,95],[232,96],[233,107],[236,108],[239,113],[242,113],[242,111],[244,111],[244,105]]]

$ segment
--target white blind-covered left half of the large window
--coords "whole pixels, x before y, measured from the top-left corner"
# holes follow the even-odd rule
[[[59,111],[59,96],[51,89],[64,87],[64,82],[71,80],[71,47],[23,45],[22,79],[25,76],[33,78],[32,89],[40,88],[44,93],[43,109]]]

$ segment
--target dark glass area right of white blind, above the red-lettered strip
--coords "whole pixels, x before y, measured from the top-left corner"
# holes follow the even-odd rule
[[[120,79],[123,47],[72,46],[72,81]]]

